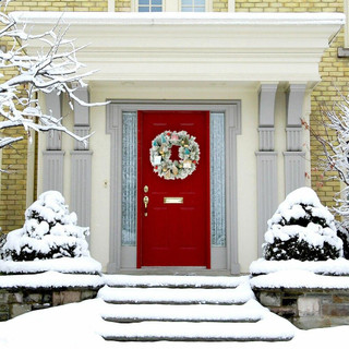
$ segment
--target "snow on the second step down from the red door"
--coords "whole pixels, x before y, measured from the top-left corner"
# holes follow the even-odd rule
[[[110,288],[105,286],[98,297],[110,303],[170,304],[242,304],[254,298],[249,284],[234,289]]]

